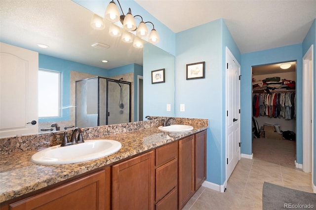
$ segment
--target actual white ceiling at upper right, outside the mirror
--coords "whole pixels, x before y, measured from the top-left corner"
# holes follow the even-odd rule
[[[135,0],[175,33],[223,18],[240,52],[302,43],[316,0]]]

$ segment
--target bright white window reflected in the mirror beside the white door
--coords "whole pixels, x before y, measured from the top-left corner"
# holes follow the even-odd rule
[[[60,116],[60,72],[39,70],[39,118]]]

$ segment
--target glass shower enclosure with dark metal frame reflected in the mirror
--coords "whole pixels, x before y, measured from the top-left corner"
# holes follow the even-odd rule
[[[76,126],[131,122],[131,83],[106,77],[76,81]]]

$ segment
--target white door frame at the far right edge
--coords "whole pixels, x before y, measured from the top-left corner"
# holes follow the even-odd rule
[[[313,81],[313,59],[314,59],[314,45],[312,44],[303,57],[303,171],[312,172],[312,187],[314,189],[314,89]],[[310,97],[312,95],[312,97]],[[311,113],[309,112],[311,109]],[[312,151],[309,147],[312,147]],[[304,162],[306,164],[304,164]],[[315,191],[316,189],[314,189]]]

